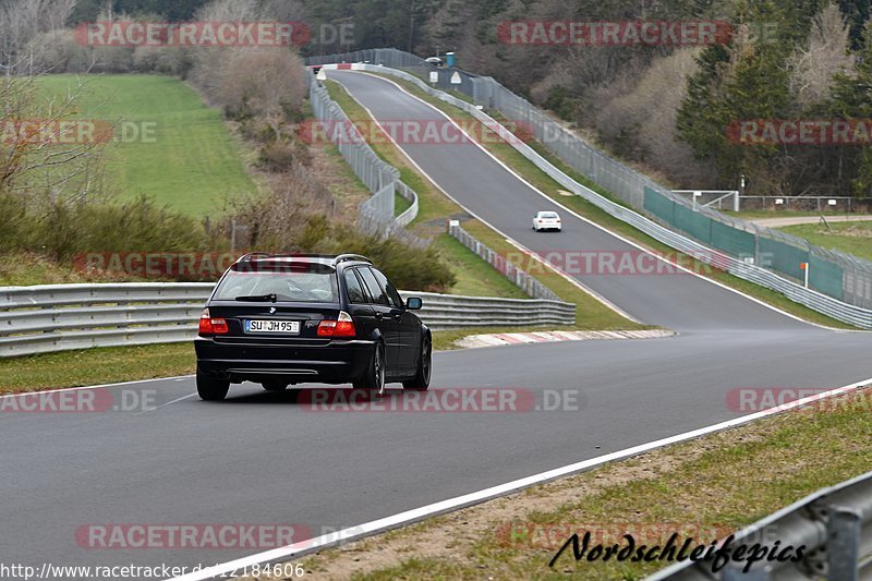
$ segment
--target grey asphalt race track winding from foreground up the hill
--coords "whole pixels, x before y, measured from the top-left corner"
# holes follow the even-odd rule
[[[437,118],[385,81],[330,75],[379,119]],[[531,217],[553,204],[474,145],[402,147],[470,211],[532,250],[634,251],[566,211],[562,233],[534,233]],[[81,546],[76,531],[293,523],[304,536],[319,535],[744,415],[728,404],[736,388],[822,389],[872,376],[868,334],[806,325],[689,275],[579,278],[679,335],[435,355],[436,394],[514,388],[532,394],[540,409],[324,412],[298,401],[299,391],[267,394],[251,384],[207,403],[193,396],[193,379],[182,378],[105,389],[116,402],[154,398],[148,411],[0,411],[0,561],[223,562],[262,548],[95,549]],[[571,394],[577,408],[541,409]]]

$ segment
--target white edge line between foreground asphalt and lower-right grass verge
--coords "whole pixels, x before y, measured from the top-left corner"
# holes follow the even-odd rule
[[[870,384],[872,384],[872,377],[863,379],[862,382],[857,382],[856,384],[847,385],[845,387],[838,387],[836,389],[831,389],[829,391],[815,394],[813,396],[809,396],[808,398],[802,398],[791,403],[785,403],[778,406],[777,408],[773,408],[771,410],[763,410],[761,412],[743,415],[741,417],[736,417],[734,420],[727,420],[726,422],[720,422],[718,424],[701,427],[699,429],[693,429],[691,432],[685,432],[683,434],[678,434],[676,436],[669,436],[667,438],[662,438],[647,444],[641,444],[632,448],[627,448],[625,450],[607,453],[605,456],[600,456],[597,458],[592,458],[590,460],[584,460],[582,462],[576,462],[574,464],[556,468],[547,472],[541,472],[532,476],[526,476],[524,479],[507,482],[506,484],[492,486],[483,491],[465,494],[462,496],[457,496],[455,498],[449,498],[440,503],[434,503],[432,505],[427,505],[421,508],[407,510],[405,512],[400,512],[399,515],[393,515],[391,517],[385,517],[383,519],[370,521],[367,523],[361,524],[360,526],[343,529],[341,531],[322,535],[308,541],[294,543],[292,545],[288,545],[284,547],[274,548],[271,550],[266,550],[264,553],[251,555],[249,557],[242,557],[240,559],[235,559],[232,561],[218,564],[196,572],[177,577],[174,579],[182,581],[199,581],[203,579],[211,579],[214,577],[227,574],[234,570],[241,570],[244,567],[251,567],[256,564],[262,564],[267,561],[278,561],[293,556],[300,556],[301,553],[312,553],[315,549],[328,548],[330,546],[348,543],[350,541],[356,541],[365,536],[373,535],[375,533],[384,532],[390,529],[396,529],[398,526],[417,522],[427,517],[443,515],[446,512],[465,508],[468,506],[477,505],[485,500],[491,500],[493,498],[505,496],[507,494],[516,493],[518,491],[533,486],[535,484],[542,484],[562,476],[568,476],[570,474],[582,472],[584,470],[590,470],[592,468],[596,468],[598,465],[608,462],[625,460],[632,456],[638,456],[640,453],[647,452],[657,448],[663,448],[664,446],[668,446],[670,444],[678,444],[681,441],[687,441],[690,439],[699,438],[701,436],[713,434],[715,432],[722,432],[724,429],[729,429],[731,427],[738,427],[740,425],[753,422],[754,420],[760,420],[761,417],[767,417],[770,415],[783,413],[788,410],[801,408],[809,403],[814,403],[816,401],[821,401],[824,399],[843,396],[845,394],[856,391],[858,388],[864,387]]]

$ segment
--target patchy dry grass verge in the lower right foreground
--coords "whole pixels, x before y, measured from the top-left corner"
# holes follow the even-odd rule
[[[872,389],[786,412],[328,549],[301,562],[318,579],[640,579],[668,562],[576,562],[592,545],[707,545],[824,486],[869,471]],[[814,459],[814,461],[810,461]],[[752,471],[749,465],[758,467]],[[739,475],[741,475],[739,477]],[[777,536],[777,532],[775,533]],[[770,546],[776,540],[767,538]],[[680,542],[679,542],[680,545]],[[261,577],[259,579],[265,579]]]

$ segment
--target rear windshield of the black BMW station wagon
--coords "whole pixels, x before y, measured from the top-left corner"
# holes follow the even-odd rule
[[[319,264],[239,264],[221,280],[218,301],[338,303],[336,270]]]

